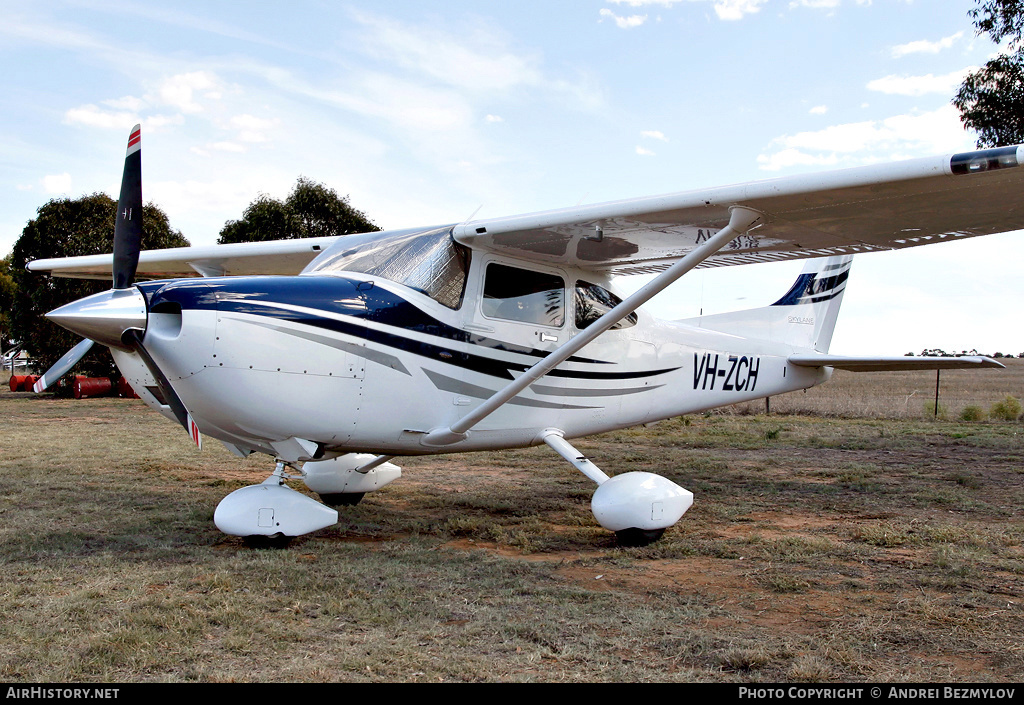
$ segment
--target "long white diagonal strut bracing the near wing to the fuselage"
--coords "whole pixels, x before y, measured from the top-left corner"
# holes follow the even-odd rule
[[[509,400],[548,374],[555,367],[561,365],[569,357],[575,355],[601,333],[664,291],[666,287],[677,279],[724,248],[738,236],[750,231],[762,217],[761,213],[750,208],[732,206],[729,208],[729,224],[711,239],[692,250],[657,277],[647,282],[632,296],[627,297],[626,300],[588,326],[586,330],[574,338],[566,340],[548,355],[548,357],[523,372],[517,379],[510,382],[504,388],[496,391],[483,404],[453,423],[452,426],[449,428],[435,428],[426,433],[421,443],[425,446],[449,446],[464,441],[470,428],[498,411]]]

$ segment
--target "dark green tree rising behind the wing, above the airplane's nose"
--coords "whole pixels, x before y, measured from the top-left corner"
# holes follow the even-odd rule
[[[348,197],[300,176],[284,202],[261,194],[249,204],[241,220],[228,220],[220,231],[220,244],[319,238],[371,233],[380,227],[352,208]]]

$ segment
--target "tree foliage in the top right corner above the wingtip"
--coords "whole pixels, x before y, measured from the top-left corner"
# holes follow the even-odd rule
[[[970,15],[978,34],[996,44],[1009,39],[1016,49],[964,79],[953,106],[964,126],[978,133],[979,149],[1024,142],[1024,1],[975,1]]]

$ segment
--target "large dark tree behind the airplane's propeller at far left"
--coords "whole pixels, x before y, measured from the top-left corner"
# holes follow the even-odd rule
[[[11,309],[11,330],[15,339],[37,361],[41,370],[49,368],[76,345],[81,337],[47,321],[44,315],[66,303],[105,291],[111,281],[89,281],[42,277],[25,265],[47,257],[100,254],[114,249],[114,221],[118,204],[105,194],[80,199],[53,199],[37,211],[14,243],[10,255],[11,276],[20,292]],[[142,249],[187,247],[188,241],[171,230],[167,215],[157,206],[142,209]],[[90,375],[116,374],[105,348],[96,345],[81,363]]]

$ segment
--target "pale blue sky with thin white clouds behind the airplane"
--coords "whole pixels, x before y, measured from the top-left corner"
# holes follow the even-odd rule
[[[194,245],[299,176],[392,229],[971,150],[950,99],[998,51],[974,6],[0,0],[0,256],[48,200],[116,198],[136,122],[145,200]],[[1021,261],[1024,233],[858,256],[831,350],[1022,352]],[[647,308],[764,305],[800,268]]]

